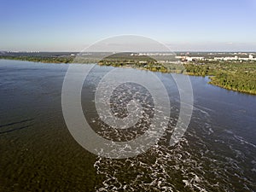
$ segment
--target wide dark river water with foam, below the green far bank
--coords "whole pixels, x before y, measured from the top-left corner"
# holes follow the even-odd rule
[[[90,154],[68,131],[61,111],[67,68],[0,60],[0,191],[256,191],[256,96],[189,77],[195,103],[180,143],[171,147],[166,136],[144,154],[113,160]],[[112,68],[96,67],[82,91],[84,115],[105,137],[112,133],[99,129],[93,90]],[[170,95],[172,128],[177,87],[170,74],[156,74]],[[133,86],[117,96],[139,91]]]

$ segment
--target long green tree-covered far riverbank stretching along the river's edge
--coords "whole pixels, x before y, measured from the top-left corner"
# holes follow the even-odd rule
[[[0,56],[0,59],[33,61],[43,63],[72,63],[74,56],[65,57],[36,57],[36,56]],[[209,84],[216,85],[226,90],[234,90],[242,93],[256,95],[256,63],[255,62],[221,62],[214,61],[207,63],[185,63],[183,65],[163,65],[152,59],[147,63],[140,62],[141,58],[136,60],[122,60],[111,58],[97,62],[101,66],[112,67],[132,67],[139,70],[148,70],[160,73],[183,73],[194,76],[211,76]],[[143,58],[145,60],[145,58]],[[95,60],[96,61],[96,60]],[[75,61],[80,63],[92,63],[91,60]]]

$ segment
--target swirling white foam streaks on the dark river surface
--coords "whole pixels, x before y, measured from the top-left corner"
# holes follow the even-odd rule
[[[140,102],[145,102],[145,106],[150,108],[152,106],[146,102],[147,98]],[[125,102],[127,98],[119,99]],[[195,116],[191,120],[193,124],[174,147],[166,143],[170,139],[177,117],[165,117],[170,122],[168,127],[162,127],[166,128],[165,135],[144,154],[125,160],[98,157],[94,166],[96,173],[103,177],[103,182],[101,186],[96,186],[96,191],[230,191],[233,189],[231,182],[234,179],[241,182],[239,184],[242,189],[252,191],[250,189],[253,183],[247,178],[241,165],[246,160],[246,152],[230,144],[226,137],[218,136],[212,126],[209,110],[206,110],[195,108]],[[146,124],[150,124],[150,116],[142,117],[144,121],[138,123],[137,127],[147,130]],[[114,137],[119,141],[124,137],[129,140],[140,134],[137,129],[133,129],[120,137],[119,131],[113,131],[105,125],[101,125],[101,128],[99,134],[103,137]],[[234,135],[232,131],[226,132],[235,144],[243,143],[254,148],[252,143]],[[149,136],[150,134],[154,135],[155,132],[150,132]],[[130,146],[125,146],[124,153],[129,148]],[[225,154],[222,148],[230,154]],[[135,150],[139,151],[139,148]],[[253,162],[256,161],[252,161],[252,164]],[[252,170],[255,172],[255,169]]]

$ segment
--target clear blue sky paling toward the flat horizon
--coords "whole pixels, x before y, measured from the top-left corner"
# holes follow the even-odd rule
[[[115,35],[173,50],[256,51],[256,0],[0,0],[0,49],[79,51]]]

